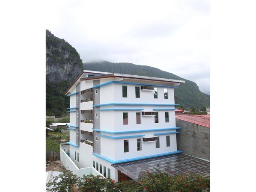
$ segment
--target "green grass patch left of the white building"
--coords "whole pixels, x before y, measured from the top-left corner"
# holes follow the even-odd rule
[[[50,136],[46,137],[46,151],[60,152],[60,139],[69,141],[69,135],[60,132],[49,132]]]

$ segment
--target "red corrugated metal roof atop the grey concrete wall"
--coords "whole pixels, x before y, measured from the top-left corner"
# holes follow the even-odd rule
[[[175,118],[210,128],[210,115],[175,114]]]

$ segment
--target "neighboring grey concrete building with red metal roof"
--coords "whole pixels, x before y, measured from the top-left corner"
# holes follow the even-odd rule
[[[194,157],[210,160],[210,115],[176,113],[177,148]]]

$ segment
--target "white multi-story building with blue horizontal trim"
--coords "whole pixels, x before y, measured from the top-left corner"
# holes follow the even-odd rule
[[[127,175],[113,164],[180,153],[174,104],[180,83],[185,81],[83,71],[66,92],[70,160],[118,181]]]

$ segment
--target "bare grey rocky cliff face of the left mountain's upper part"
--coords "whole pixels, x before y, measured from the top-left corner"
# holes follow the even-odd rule
[[[46,30],[46,82],[72,83],[82,71],[83,62],[77,50]]]

